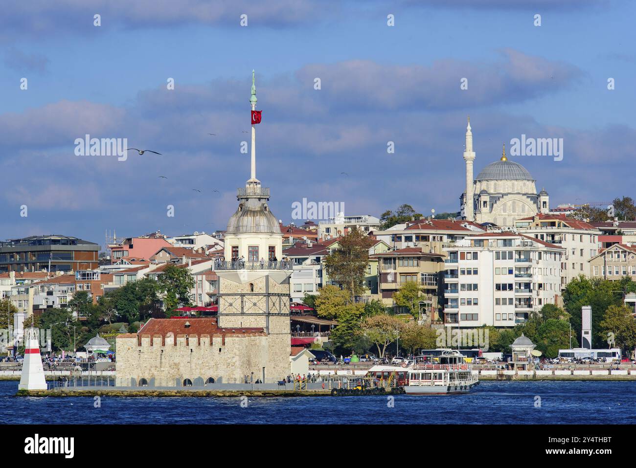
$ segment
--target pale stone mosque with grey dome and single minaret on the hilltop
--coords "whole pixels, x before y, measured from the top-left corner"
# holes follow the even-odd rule
[[[466,128],[466,190],[460,196],[462,217],[475,223],[492,223],[501,227],[515,226],[516,219],[547,214],[548,192],[537,193],[535,180],[525,167],[508,160],[506,145],[501,159],[484,167],[473,178],[473,132],[468,118]]]

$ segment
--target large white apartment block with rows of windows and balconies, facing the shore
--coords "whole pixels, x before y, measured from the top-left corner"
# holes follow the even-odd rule
[[[565,250],[527,235],[483,233],[446,247],[444,322],[513,327],[557,302]]]

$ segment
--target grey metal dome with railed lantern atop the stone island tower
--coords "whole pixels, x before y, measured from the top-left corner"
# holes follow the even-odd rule
[[[267,233],[280,234],[280,225],[270,211],[267,200],[269,189],[239,189],[239,208],[228,221],[227,234]]]

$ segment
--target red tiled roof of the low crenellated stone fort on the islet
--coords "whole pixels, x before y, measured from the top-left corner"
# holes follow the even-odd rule
[[[186,322],[188,322],[190,326],[186,327]],[[190,338],[194,338],[195,336],[200,338],[202,335],[208,335],[210,337],[233,336],[239,338],[245,338],[247,336],[266,336],[265,330],[258,327],[219,328],[216,323],[216,317],[150,319],[141,328],[141,330],[133,336],[137,336],[137,338],[141,341],[142,336],[150,336],[151,338],[154,338],[156,335],[161,335],[165,341],[165,337],[169,333],[174,335],[174,344],[177,342],[177,336],[186,334],[190,336]],[[129,336],[126,337],[132,338]]]

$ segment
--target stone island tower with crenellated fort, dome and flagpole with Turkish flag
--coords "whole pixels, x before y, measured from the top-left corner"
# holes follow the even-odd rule
[[[190,387],[273,383],[289,375],[289,276],[282,233],[269,209],[270,189],[256,179],[256,107],[252,71],[251,177],[239,188],[215,265],[216,317],[150,319],[116,339],[117,385]]]

